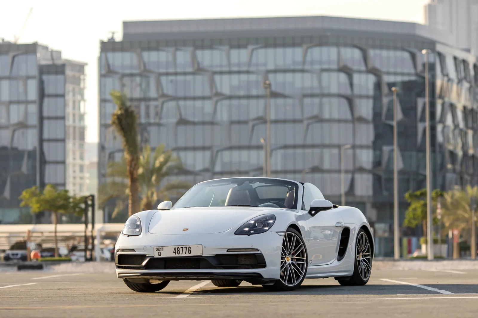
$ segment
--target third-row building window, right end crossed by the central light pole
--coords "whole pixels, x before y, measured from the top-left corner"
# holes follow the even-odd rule
[[[229,121],[265,117],[265,102],[265,98],[222,99],[217,102],[216,119],[218,121]]]

